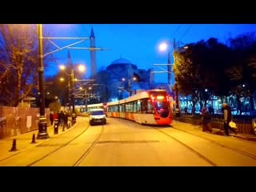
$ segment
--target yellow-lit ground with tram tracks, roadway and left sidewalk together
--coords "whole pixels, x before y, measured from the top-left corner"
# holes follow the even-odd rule
[[[202,132],[200,126],[142,126],[119,118],[89,126],[88,118],[31,144],[30,137],[0,141],[0,166],[255,166],[255,142]],[[24,139],[22,139],[22,137]],[[8,142],[7,142],[8,141]],[[26,143],[25,143],[26,142]],[[4,144],[10,144],[9,148]],[[24,147],[23,149],[21,147]]]

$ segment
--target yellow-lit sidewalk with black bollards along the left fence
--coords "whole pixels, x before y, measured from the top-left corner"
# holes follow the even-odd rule
[[[74,126],[76,125],[77,124],[75,124]],[[72,126],[70,127],[70,129],[72,129]],[[13,154],[18,154],[22,150],[26,150],[27,148],[37,146],[42,142],[46,142],[51,138],[57,137],[60,134],[64,134],[68,130],[65,129],[65,131],[62,131],[62,127],[58,127],[58,134],[54,134],[54,126],[48,126],[47,133],[49,135],[49,138],[37,139],[38,130],[33,130],[26,134],[18,134],[11,138],[1,139],[0,140],[0,161],[2,159],[10,157]],[[14,140],[16,143],[14,142]]]

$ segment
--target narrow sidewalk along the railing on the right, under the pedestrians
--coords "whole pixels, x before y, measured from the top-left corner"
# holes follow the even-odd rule
[[[194,126],[190,123],[186,123],[186,122],[178,122],[177,120],[174,120],[174,122],[172,123],[172,126],[174,126],[174,128],[178,129],[178,130],[198,130],[198,131],[202,131],[202,126]],[[223,135],[224,134],[224,130],[220,130],[217,128],[212,128],[212,134],[218,134],[218,135]],[[256,135],[253,134],[242,134],[242,133],[238,133],[238,134],[234,134],[234,133],[230,133],[231,137],[234,138],[241,138],[241,139],[245,139],[245,140],[249,140],[249,141],[253,141],[256,142]]]

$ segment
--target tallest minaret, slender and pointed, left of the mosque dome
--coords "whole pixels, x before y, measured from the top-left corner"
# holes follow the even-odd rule
[[[94,78],[97,73],[96,66],[96,50],[95,50],[95,36],[94,29],[91,28],[90,31],[90,77]]]

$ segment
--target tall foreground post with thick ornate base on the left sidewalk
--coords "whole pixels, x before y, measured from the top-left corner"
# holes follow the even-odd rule
[[[43,69],[43,53],[42,53],[42,24],[38,24],[38,84],[39,84],[39,102],[40,102],[40,116],[38,122],[38,136],[37,138],[49,138],[47,133],[47,122],[45,114],[45,89],[44,89],[44,69]]]

